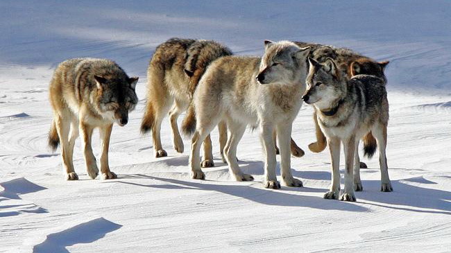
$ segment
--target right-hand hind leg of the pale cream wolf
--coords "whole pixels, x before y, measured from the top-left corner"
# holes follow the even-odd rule
[[[230,175],[235,177],[237,181],[253,181],[254,177],[249,174],[244,174],[239,169],[237,163],[237,146],[241,137],[243,137],[244,131],[246,131],[246,125],[231,120],[228,121],[228,128],[230,130],[230,137],[228,138],[224,152],[226,152]]]

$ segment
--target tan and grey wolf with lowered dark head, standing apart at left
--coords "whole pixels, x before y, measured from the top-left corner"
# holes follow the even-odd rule
[[[138,101],[135,93],[137,81],[137,77],[129,78],[111,60],[76,58],[58,65],[49,86],[53,108],[49,146],[56,150],[61,144],[66,180],[78,180],[72,156],[79,133],[87,174],[92,179],[99,174],[91,146],[94,128],[100,131],[101,175],[103,179],[117,178],[108,165],[112,125],[128,123],[128,112],[135,109]]]

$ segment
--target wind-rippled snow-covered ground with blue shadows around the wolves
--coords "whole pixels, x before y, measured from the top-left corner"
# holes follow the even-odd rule
[[[0,252],[451,249],[450,1],[3,0],[0,31]],[[168,120],[162,141],[169,156],[155,159],[139,123],[148,60],[169,37],[217,40],[240,55],[261,55],[263,40],[310,41],[390,60],[387,157],[394,191],[379,191],[376,155],[364,159],[369,168],[361,170],[358,202],[323,200],[330,158],[307,149],[314,140],[309,106],[293,125],[293,138],[306,150],[292,158],[303,188],[262,187],[257,132],[246,132],[238,149],[241,168],[255,182],[231,181],[220,159],[204,170],[207,180],[191,180],[188,152],[171,148]],[[139,105],[128,125],[112,133],[117,180],[89,180],[77,142],[80,180],[67,182],[59,151],[46,147],[53,69],[85,56],[116,60],[140,77]],[[216,132],[213,139],[217,158]]]

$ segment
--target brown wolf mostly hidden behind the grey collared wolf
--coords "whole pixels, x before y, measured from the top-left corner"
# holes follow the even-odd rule
[[[348,80],[352,78],[352,76],[356,76],[359,74],[368,74],[377,76],[382,78],[386,83],[386,77],[384,74],[384,69],[389,61],[377,62],[371,58],[368,58],[364,55],[360,55],[359,53],[355,53],[354,51],[346,48],[337,48],[334,46],[327,46],[323,44],[315,44],[309,42],[293,42],[296,45],[303,47],[309,46],[311,48],[309,57],[313,58],[318,62],[325,62],[327,58],[332,58],[339,70],[341,71],[341,75],[346,77]],[[316,132],[316,142],[309,144],[309,149],[312,152],[321,152],[326,147],[326,139],[321,132],[321,128],[319,128],[318,123],[316,122],[316,114],[313,115],[314,123],[315,123],[315,132]],[[371,150],[372,147],[375,147],[375,139],[371,132],[366,134],[364,137],[364,143],[367,143],[366,149],[364,150],[364,154],[367,157],[371,158],[371,153],[374,150]],[[302,154],[303,150],[298,148],[296,142],[291,139],[291,153],[294,154]],[[302,156],[300,155],[300,156]],[[296,156],[296,155],[295,155]],[[361,168],[366,168],[366,164],[361,162]]]

